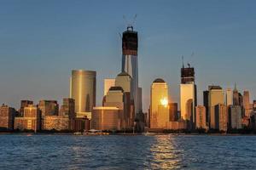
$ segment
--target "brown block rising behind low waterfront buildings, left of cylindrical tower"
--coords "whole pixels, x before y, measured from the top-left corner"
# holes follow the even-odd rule
[[[41,116],[57,116],[59,114],[59,105],[55,100],[40,100],[38,108],[41,111]]]

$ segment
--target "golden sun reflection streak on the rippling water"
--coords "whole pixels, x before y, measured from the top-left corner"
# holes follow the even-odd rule
[[[153,169],[173,169],[182,167],[181,152],[177,148],[175,138],[172,135],[156,135],[155,143],[150,151],[153,154],[153,160],[150,167]]]

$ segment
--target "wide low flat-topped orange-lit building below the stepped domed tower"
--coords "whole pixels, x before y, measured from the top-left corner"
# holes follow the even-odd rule
[[[120,115],[118,107],[94,107],[91,116],[91,128],[96,130],[120,130]]]

